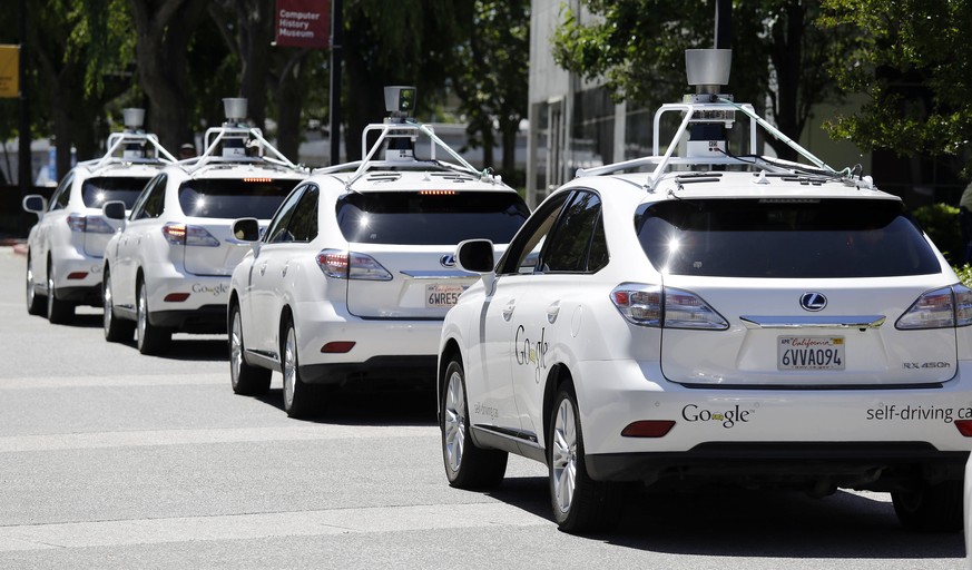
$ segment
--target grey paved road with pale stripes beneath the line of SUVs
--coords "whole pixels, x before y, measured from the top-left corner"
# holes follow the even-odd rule
[[[958,569],[960,534],[903,531],[888,497],[713,490],[631,498],[620,529],[558,532],[546,469],[445,484],[431,393],[345,395],[288,420],[229,389],[225,340],[166,357],[100,313],[28,316],[0,247],[0,568]]]

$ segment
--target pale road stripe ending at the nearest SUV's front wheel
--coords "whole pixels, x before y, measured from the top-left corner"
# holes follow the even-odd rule
[[[342,440],[360,438],[429,438],[434,425],[296,425],[283,428],[214,428],[205,430],[147,430],[137,432],[55,433],[0,438],[0,453],[194,445],[266,441]]]

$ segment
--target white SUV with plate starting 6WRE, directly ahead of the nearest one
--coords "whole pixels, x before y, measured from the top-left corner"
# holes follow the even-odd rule
[[[365,129],[364,160],[301,183],[233,272],[233,390],[265,393],[282,372],[291,416],[344,384],[431,387],[442,318],[478,277],[454,266],[456,244],[502,247],[529,215],[499,177],[406,120],[413,88],[387,89],[396,116]],[[438,160],[436,148],[458,164]],[[236,227],[256,237],[254,220]]]

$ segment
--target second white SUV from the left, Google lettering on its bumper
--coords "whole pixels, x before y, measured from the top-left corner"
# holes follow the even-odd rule
[[[119,203],[104,206],[107,218],[124,219],[105,250],[109,342],[135,331],[139,352],[159,354],[175,332],[224,333],[229,275],[249,250],[233,220],[266,224],[307,174],[243,122],[245,99],[224,101],[227,122],[206,131],[203,155],[164,168],[127,218]]]

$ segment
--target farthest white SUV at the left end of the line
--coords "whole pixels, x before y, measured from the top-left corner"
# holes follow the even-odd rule
[[[105,218],[111,200],[131,208],[145,184],[173,157],[155,135],[141,130],[144,109],[124,109],[125,130],[108,137],[105,155],[78,164],[61,178],[50,204],[23,198],[38,223],[27,238],[27,311],[68,323],[77,305],[101,306],[105,246],[119,224]]]

